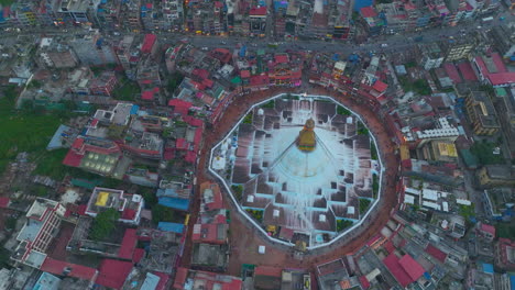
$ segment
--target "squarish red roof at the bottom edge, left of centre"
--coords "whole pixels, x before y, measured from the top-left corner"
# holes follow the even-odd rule
[[[131,261],[103,259],[99,267],[96,283],[109,288],[121,289],[131,270]]]

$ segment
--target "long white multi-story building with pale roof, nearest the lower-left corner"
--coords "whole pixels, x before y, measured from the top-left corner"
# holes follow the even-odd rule
[[[58,233],[66,209],[57,201],[36,199],[26,212],[26,222],[17,236],[20,242],[11,256],[15,261],[40,268],[46,249]]]

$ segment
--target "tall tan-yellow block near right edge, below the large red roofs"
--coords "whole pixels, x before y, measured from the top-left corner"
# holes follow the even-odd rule
[[[470,91],[465,98],[465,109],[474,134],[491,136],[501,129],[497,114],[486,92]]]

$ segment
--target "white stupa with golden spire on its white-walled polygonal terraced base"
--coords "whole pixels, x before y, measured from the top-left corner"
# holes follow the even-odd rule
[[[281,93],[251,105],[211,148],[209,171],[249,226],[315,249],[376,210],[384,167],[360,115],[331,97]]]

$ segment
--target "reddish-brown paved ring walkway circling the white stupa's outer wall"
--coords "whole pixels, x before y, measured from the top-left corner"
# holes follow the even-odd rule
[[[255,228],[254,225],[250,224],[246,217],[238,214],[238,210],[235,208],[238,205],[232,203],[232,200],[226,192],[223,194],[224,203],[226,207],[231,210],[229,242],[231,250],[228,267],[228,272],[231,275],[239,276],[241,265],[245,263],[278,266],[282,268],[310,268],[316,264],[333,260],[335,258],[346,254],[353,253],[365,245],[366,241],[380,233],[381,228],[388,221],[393,209],[397,207],[396,182],[398,179],[398,158],[395,155],[396,145],[392,142],[388,129],[384,126],[384,122],[382,122],[379,115],[368,107],[357,103],[353,99],[346,97],[340,92],[325,88],[310,88],[303,91],[296,89],[273,88],[265,91],[258,91],[235,97],[234,100],[232,100],[232,103],[226,109],[218,123],[213,127],[206,130],[204,146],[198,163],[197,186],[204,181],[218,182],[218,180],[208,171],[210,149],[226,136],[226,134],[246,113],[248,109],[252,104],[264,101],[280,93],[306,93],[331,97],[362,118],[362,121],[375,137],[377,150],[382,156],[382,166],[385,169],[383,171],[381,186],[381,202],[363,221],[360,227],[353,230],[343,238],[339,238],[331,245],[309,250],[303,256],[302,260],[299,260],[294,257],[294,252],[291,246],[272,242],[270,238],[264,236],[262,232]],[[200,204],[198,192],[195,198],[186,241],[190,241],[193,224],[198,217]],[[260,245],[266,246],[265,255],[260,255],[258,253],[258,247]],[[185,267],[189,266],[191,248],[191,243],[186,243],[182,258],[182,265]]]

